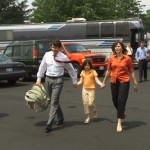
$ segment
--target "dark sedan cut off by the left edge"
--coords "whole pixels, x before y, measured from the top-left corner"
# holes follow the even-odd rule
[[[6,55],[0,54],[0,81],[7,80],[9,84],[15,84],[25,75],[26,67],[23,63],[13,62]]]

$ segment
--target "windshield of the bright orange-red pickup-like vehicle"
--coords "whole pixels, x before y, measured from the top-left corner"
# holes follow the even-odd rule
[[[66,50],[70,53],[87,52],[87,49],[81,44],[65,44]]]

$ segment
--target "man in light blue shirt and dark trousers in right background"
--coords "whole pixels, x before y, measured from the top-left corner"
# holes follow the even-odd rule
[[[147,81],[147,58],[148,58],[148,49],[145,47],[145,42],[140,42],[140,47],[135,53],[135,58],[138,61],[139,66],[139,83],[142,82],[142,76],[144,71],[144,80]]]

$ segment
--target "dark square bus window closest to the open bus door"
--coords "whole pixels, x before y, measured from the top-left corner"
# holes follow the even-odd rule
[[[117,22],[116,23],[116,37],[128,37],[129,36],[129,23]]]

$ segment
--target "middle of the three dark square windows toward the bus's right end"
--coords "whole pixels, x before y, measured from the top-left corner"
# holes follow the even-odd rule
[[[114,24],[113,23],[101,24],[101,37],[114,37]]]

